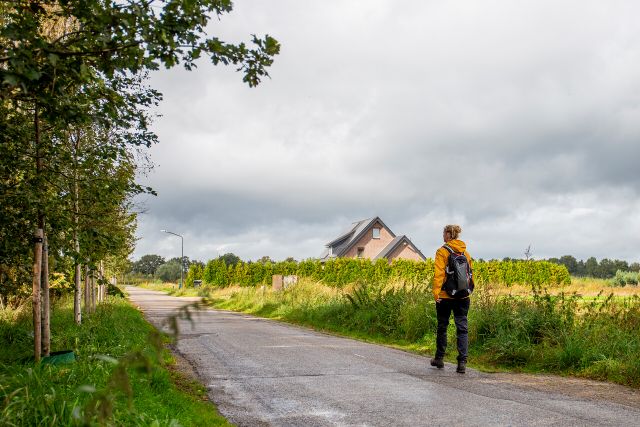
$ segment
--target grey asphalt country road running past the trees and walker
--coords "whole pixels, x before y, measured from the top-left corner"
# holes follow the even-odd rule
[[[128,287],[160,325],[196,298]],[[177,351],[239,426],[640,426],[640,393],[561,377],[456,374],[426,357],[244,314],[203,310]]]

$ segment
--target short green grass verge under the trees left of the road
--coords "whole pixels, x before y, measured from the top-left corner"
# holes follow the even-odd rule
[[[0,311],[2,425],[229,425],[169,351],[153,350],[155,329],[122,298],[109,297],[80,326],[72,300],[57,302],[52,350],[74,350],[72,364],[29,361],[31,328],[30,306]]]

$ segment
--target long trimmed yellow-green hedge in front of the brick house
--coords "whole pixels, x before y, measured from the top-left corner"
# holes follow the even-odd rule
[[[557,285],[571,282],[569,272],[564,265],[547,261],[476,261],[474,277],[478,285],[495,283],[510,286]],[[187,275],[187,285],[193,280],[203,280],[214,286],[255,286],[270,284],[274,274],[308,277],[332,286],[343,286],[354,282],[403,281],[408,284],[429,283],[433,279],[434,262],[385,259],[370,261],[366,259],[337,258],[321,263],[316,260],[300,262],[239,262],[226,265],[218,258],[209,261],[204,270],[192,266]]]

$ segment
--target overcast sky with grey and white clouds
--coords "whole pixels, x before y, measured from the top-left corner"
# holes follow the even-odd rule
[[[209,27],[282,44],[157,72],[164,94],[133,255],[320,255],[380,216],[427,256],[640,260],[640,2],[248,1]]]

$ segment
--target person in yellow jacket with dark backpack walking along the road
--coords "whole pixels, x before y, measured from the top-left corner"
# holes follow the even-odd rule
[[[459,225],[444,227],[442,239],[445,244],[436,251],[433,297],[436,300],[438,330],[436,354],[431,359],[431,366],[438,369],[444,368],[447,327],[451,313],[453,313],[458,345],[456,372],[464,374],[469,347],[467,313],[471,302],[469,296],[473,291],[473,276],[471,256],[467,252],[467,246],[458,239],[461,232],[462,228]]]

